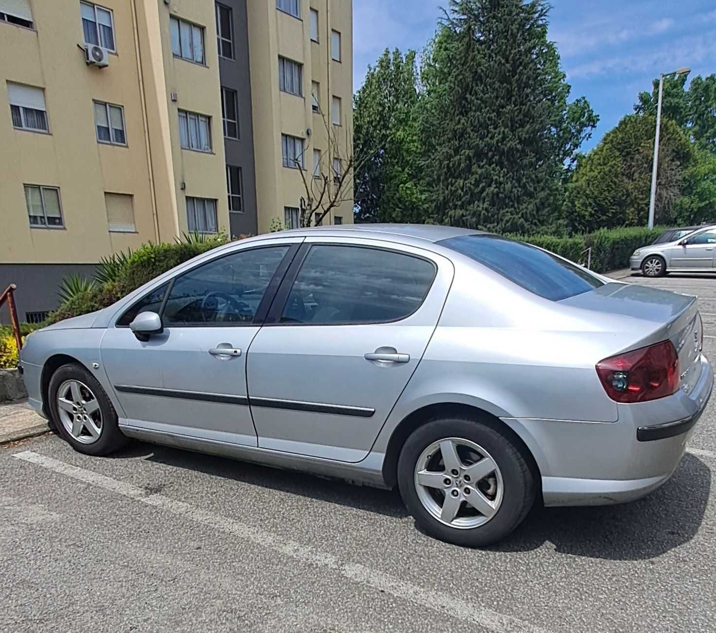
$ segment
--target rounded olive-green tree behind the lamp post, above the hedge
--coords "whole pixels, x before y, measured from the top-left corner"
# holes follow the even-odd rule
[[[579,160],[569,183],[567,217],[574,231],[594,231],[617,226],[643,226],[649,216],[654,131],[651,115],[627,115],[604,135],[599,145]],[[683,130],[671,119],[662,119],[657,172],[657,223],[683,216],[692,204],[685,174],[697,160]],[[702,191],[702,198],[707,191]]]

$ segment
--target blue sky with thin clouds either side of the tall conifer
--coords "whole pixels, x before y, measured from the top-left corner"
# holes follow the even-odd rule
[[[443,0],[354,0],[353,84],[384,48],[420,49],[435,32]],[[583,150],[632,112],[659,72],[682,66],[691,77],[716,72],[714,0],[553,0],[549,37],[572,86],[600,120]],[[406,11],[406,8],[410,10]]]

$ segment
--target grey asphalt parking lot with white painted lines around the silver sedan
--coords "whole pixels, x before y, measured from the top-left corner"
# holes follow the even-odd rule
[[[716,279],[697,294],[716,359]],[[468,550],[395,492],[135,443],[0,448],[0,631],[716,630],[716,398],[635,503],[533,510]]]

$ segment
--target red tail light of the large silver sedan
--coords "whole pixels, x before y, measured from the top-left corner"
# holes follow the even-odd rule
[[[672,395],[679,388],[679,357],[671,341],[599,361],[596,373],[616,402],[646,402]]]

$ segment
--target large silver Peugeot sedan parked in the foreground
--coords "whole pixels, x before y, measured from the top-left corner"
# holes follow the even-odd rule
[[[695,297],[445,226],[221,246],[31,334],[30,402],[73,448],[139,438],[400,489],[484,546],[677,468],[710,397]]]

